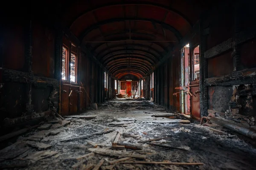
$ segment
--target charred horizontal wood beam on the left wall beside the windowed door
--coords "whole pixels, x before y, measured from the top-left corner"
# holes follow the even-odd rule
[[[21,83],[33,83],[44,84],[46,86],[59,87],[58,79],[52,79],[48,77],[32,76],[29,73],[15,71],[10,69],[4,69],[3,82],[21,82]]]

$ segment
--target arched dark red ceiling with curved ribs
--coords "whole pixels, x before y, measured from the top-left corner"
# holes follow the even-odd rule
[[[64,25],[117,79],[143,78],[199,19],[202,0],[74,0]]]

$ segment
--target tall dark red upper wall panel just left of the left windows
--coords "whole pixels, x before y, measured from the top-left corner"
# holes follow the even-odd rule
[[[54,78],[55,32],[40,21],[32,22],[32,71],[35,75]]]

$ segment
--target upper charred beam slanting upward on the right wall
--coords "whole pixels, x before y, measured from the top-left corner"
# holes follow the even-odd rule
[[[215,57],[217,55],[223,54],[224,52],[236,47],[241,43],[244,43],[248,40],[251,40],[256,37],[256,26],[248,28],[244,31],[236,32],[235,38],[230,38],[220,44],[210,48],[209,50],[204,52],[204,57],[209,59]],[[235,40],[233,40],[235,39]]]

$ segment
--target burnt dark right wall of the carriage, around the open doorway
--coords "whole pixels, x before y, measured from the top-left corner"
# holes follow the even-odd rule
[[[180,86],[180,49],[189,43],[190,55],[200,45],[201,116],[207,115],[207,109],[256,115],[256,14],[248,1],[234,2],[221,2],[203,13],[166,62],[156,68],[155,102],[180,111],[180,96],[172,94]]]

